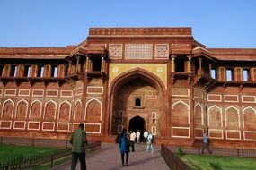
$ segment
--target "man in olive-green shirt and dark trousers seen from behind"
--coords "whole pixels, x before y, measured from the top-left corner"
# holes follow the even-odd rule
[[[87,145],[84,123],[80,123],[78,129],[70,136],[69,142],[72,144],[71,170],[75,170],[77,160],[80,161],[81,170],[86,170],[85,145]]]

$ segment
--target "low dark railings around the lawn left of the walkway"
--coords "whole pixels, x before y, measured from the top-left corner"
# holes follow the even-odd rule
[[[8,142],[3,142],[3,141],[8,141]],[[35,145],[35,139],[19,139],[17,138],[14,140],[12,138],[12,143],[9,142],[11,141],[10,138],[1,138],[1,144],[24,144],[26,145],[31,145],[31,146],[36,146]],[[19,142],[20,141],[20,142]],[[22,141],[22,143],[21,143]],[[32,141],[32,142],[31,142]],[[37,140],[38,141],[38,140]],[[45,142],[44,142],[45,141]],[[55,144],[55,145],[52,145]],[[65,145],[64,145],[65,144]],[[67,148],[67,143],[66,140],[42,140],[40,139],[40,142],[37,144],[37,146],[66,146]],[[91,153],[95,150],[101,149],[101,141],[96,141],[93,143],[89,143],[86,145],[86,153]],[[67,157],[71,155],[71,149],[63,149],[61,151],[55,152],[55,153],[43,153],[43,154],[38,154],[34,155],[31,157],[16,157],[11,160],[8,160],[7,162],[0,163],[0,170],[13,170],[13,169],[49,169],[53,167],[54,161],[57,159],[60,159],[62,157]],[[40,167],[43,166],[43,167]]]

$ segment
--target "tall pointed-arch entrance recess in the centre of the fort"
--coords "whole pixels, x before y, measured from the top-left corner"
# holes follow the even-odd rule
[[[155,134],[161,136],[164,110],[161,80],[138,68],[120,74],[110,87],[112,134],[121,132],[123,128],[141,133],[154,128]],[[153,113],[157,115],[154,118]]]

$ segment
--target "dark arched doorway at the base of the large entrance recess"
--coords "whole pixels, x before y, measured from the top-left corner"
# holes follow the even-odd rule
[[[131,118],[128,123],[128,130],[129,130],[129,132],[131,130],[133,130],[134,132],[137,132],[137,130],[139,130],[140,137],[142,138],[143,137],[142,134],[145,130],[145,120],[138,115]]]

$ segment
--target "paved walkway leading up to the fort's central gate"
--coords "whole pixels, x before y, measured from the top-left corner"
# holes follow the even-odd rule
[[[160,146],[154,147],[154,153],[146,153],[146,144],[136,144],[135,152],[130,152],[128,164],[129,166],[122,166],[119,144],[102,143],[102,149],[95,151],[86,156],[86,163],[88,170],[169,170],[165,164],[163,157],[161,157]],[[70,170],[71,162],[54,168],[55,170]],[[80,165],[77,164],[76,170],[80,170]]]

